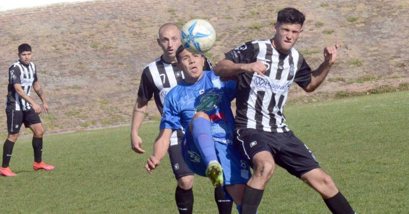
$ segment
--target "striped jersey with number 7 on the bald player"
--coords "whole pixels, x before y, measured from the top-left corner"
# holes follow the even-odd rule
[[[212,63],[205,58],[205,67],[203,67],[203,70],[212,69]],[[154,62],[148,64],[143,70],[138,96],[145,101],[149,101],[153,96],[157,110],[159,110],[162,115],[166,94],[184,78],[185,75],[177,67],[177,63],[169,64],[165,62],[161,56]]]

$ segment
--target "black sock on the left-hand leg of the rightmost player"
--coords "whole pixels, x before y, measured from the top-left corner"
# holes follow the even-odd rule
[[[243,192],[243,199],[241,200],[241,213],[255,214],[263,197],[263,193],[264,190],[257,190],[246,185]]]

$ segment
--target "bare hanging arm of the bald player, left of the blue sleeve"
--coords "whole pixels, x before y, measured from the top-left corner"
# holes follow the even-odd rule
[[[145,118],[146,110],[148,109],[148,101],[143,100],[141,97],[137,98],[135,106],[133,107],[132,125],[131,125],[131,147],[132,150],[143,154],[145,150],[142,147],[142,138],[139,137],[139,129]]]

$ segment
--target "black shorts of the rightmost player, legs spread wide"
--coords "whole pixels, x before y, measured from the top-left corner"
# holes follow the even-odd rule
[[[251,128],[236,129],[234,144],[252,167],[256,153],[269,151],[277,165],[298,178],[320,168],[314,154],[292,131],[278,133]]]

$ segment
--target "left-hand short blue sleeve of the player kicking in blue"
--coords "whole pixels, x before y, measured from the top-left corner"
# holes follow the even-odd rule
[[[177,103],[171,94],[166,96],[163,106],[160,129],[164,128],[180,129],[180,116],[177,111]]]

